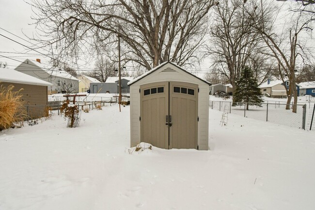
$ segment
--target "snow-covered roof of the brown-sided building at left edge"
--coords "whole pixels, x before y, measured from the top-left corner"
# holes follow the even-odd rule
[[[0,68],[0,81],[51,86],[52,84],[10,68]]]

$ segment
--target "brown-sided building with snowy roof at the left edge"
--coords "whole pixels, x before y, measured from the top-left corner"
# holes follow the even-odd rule
[[[44,116],[47,107],[47,91],[52,84],[30,75],[9,68],[0,68],[0,86],[14,86],[14,91],[21,90],[25,111],[29,119]]]

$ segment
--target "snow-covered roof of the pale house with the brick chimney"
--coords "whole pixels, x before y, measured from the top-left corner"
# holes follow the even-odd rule
[[[31,62],[31,64],[30,64]],[[70,80],[75,80],[75,81],[79,81],[77,78],[75,78],[74,76],[72,76],[71,74],[69,74],[68,72],[66,71],[63,71],[63,70],[60,70],[60,69],[57,69],[57,68],[51,68],[49,67],[48,65],[45,65],[45,64],[42,64],[42,63],[39,63],[37,61],[31,61],[30,59],[26,59],[24,62],[22,62],[20,65],[22,64],[29,64],[29,65],[32,65],[32,66],[38,66],[40,67],[42,70],[46,71],[47,74],[53,76],[53,77],[61,77],[61,78],[65,78],[65,79],[70,79]],[[20,66],[18,65],[18,66]],[[17,67],[18,67],[17,66]],[[17,68],[16,67],[16,68]],[[16,69],[15,68],[15,69]]]

